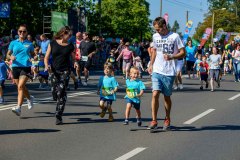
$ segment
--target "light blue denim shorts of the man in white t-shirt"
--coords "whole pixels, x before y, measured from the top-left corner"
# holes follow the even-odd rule
[[[152,91],[161,91],[165,96],[171,96],[174,80],[175,76],[165,76],[154,72],[152,74]]]

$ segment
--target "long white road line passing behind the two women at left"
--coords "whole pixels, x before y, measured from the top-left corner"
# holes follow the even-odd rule
[[[71,97],[77,97],[77,96],[81,96],[81,95],[88,95],[88,94],[93,94],[95,92],[76,92],[76,93],[71,93],[71,94],[68,94],[68,98],[71,98]],[[38,104],[38,103],[47,103],[47,102],[53,102],[52,101],[52,97],[47,97],[47,98],[42,98],[42,99],[37,99],[35,98],[36,102],[34,104]],[[3,106],[0,106],[0,111],[3,111],[3,110],[7,110],[7,109],[11,109],[12,107],[16,106],[17,104],[8,104],[8,105],[3,105]],[[22,107],[24,106],[27,106],[27,104],[23,104]]]

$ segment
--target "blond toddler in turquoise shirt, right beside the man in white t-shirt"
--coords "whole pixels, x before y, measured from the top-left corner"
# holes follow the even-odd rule
[[[130,69],[130,79],[126,80],[126,93],[124,97],[127,102],[126,111],[125,111],[125,121],[124,125],[128,125],[128,118],[130,115],[130,110],[132,107],[135,108],[137,113],[137,124],[138,126],[142,125],[141,120],[141,111],[140,111],[140,97],[143,95],[144,90],[146,89],[145,85],[141,80],[138,79],[139,70],[137,67],[132,67]]]

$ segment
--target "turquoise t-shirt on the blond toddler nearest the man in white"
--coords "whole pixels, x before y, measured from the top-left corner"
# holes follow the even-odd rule
[[[126,96],[124,98],[131,99],[134,103],[140,103],[140,98],[136,97],[137,94],[141,92],[141,90],[145,90],[146,87],[142,81],[139,79],[136,80],[126,80]]]

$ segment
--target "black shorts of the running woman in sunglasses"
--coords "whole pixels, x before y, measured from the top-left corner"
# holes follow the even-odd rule
[[[31,77],[31,67],[12,67],[13,79],[19,79],[20,76]]]

